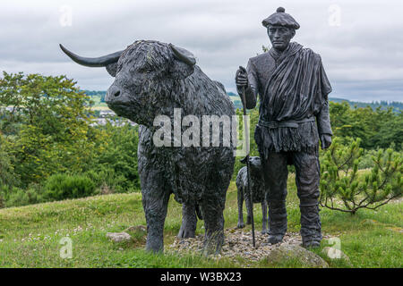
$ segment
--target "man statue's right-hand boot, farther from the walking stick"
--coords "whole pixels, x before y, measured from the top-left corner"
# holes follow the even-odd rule
[[[304,248],[318,248],[321,245],[321,218],[318,204],[300,205],[301,237]]]

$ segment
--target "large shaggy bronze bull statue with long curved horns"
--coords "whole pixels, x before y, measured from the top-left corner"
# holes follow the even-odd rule
[[[197,141],[206,136],[201,132],[204,129],[197,125],[204,122],[202,118],[206,115],[231,118],[235,114],[223,86],[210,80],[195,65],[190,52],[172,44],[141,40],[124,51],[99,58],[83,58],[64,46],[61,48],[76,63],[106,67],[116,78],[107,91],[107,105],[116,114],[140,124],[138,161],[147,221],[146,249],[161,251],[164,248],[167,203],[173,193],[176,201],[184,205],[179,236],[194,236],[196,210],[200,209],[205,227],[204,251],[219,252],[224,240],[223,210],[234,170],[236,143],[231,140],[228,146],[215,147],[196,142],[184,146],[176,135],[177,131],[180,135],[184,127],[190,126],[189,129],[193,129],[190,138],[195,142],[194,139]],[[174,122],[173,145],[155,144],[156,137],[160,139],[156,134],[162,129],[161,123],[156,126],[155,122],[161,116],[169,121],[162,122],[168,135],[171,135],[171,122]],[[184,117],[183,121],[179,118],[179,126],[175,125],[178,116]],[[189,121],[188,116],[193,116],[193,120]],[[223,143],[222,135],[227,130],[224,123],[219,122],[219,126],[214,127],[210,122],[207,127],[210,131],[207,135],[217,132],[218,127],[219,142]],[[171,143],[166,135],[162,136],[164,142]]]

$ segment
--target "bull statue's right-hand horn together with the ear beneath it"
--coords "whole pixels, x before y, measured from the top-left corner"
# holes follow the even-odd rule
[[[174,61],[169,69],[171,76],[183,80],[193,73],[196,59],[191,52],[182,47],[172,44],[169,44],[169,47],[174,55]]]

